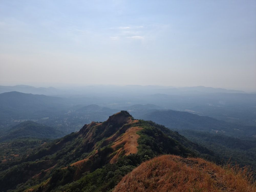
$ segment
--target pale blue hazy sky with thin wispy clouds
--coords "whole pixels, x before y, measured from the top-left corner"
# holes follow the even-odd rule
[[[0,0],[0,85],[256,90],[256,1]]]

